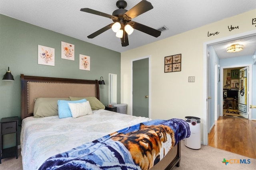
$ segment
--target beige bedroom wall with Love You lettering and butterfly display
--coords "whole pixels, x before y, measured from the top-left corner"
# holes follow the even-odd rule
[[[252,18],[256,18],[256,10],[121,53],[121,103],[128,104],[127,113],[131,114],[131,61],[150,56],[151,118],[202,119],[203,43],[255,30]],[[229,31],[230,25],[239,29]],[[208,31],[219,33],[208,37]],[[164,73],[164,57],[176,54],[182,54],[181,71]],[[195,76],[195,82],[189,83],[188,76]]]

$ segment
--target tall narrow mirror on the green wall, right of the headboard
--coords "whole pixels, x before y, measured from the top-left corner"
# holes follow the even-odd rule
[[[109,73],[108,83],[108,103],[116,104],[117,102],[117,74]]]

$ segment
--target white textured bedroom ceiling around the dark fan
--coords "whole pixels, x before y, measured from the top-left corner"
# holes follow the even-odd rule
[[[80,8],[91,8],[112,14],[118,9],[116,1],[0,0],[0,14],[107,49],[123,52],[256,9],[255,0],[148,0],[154,8],[132,20],[154,29],[165,25],[168,30],[163,31],[160,37],[155,38],[134,30],[128,36],[130,45],[122,47],[120,38],[117,38],[115,33],[109,29],[93,39],[88,39],[88,35],[112,23],[112,20],[81,12]],[[129,10],[140,0],[126,0],[126,2],[125,9]]]

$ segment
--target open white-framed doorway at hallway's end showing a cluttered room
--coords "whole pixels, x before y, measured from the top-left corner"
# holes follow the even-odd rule
[[[236,58],[234,60],[236,61],[238,59]],[[246,69],[245,72],[244,69]],[[231,72],[237,72],[236,74],[239,75],[239,80],[238,76],[232,76]],[[252,120],[252,109],[249,107],[252,103],[253,93],[252,64],[222,66],[220,74],[222,80],[219,93],[221,99],[220,116],[234,115],[238,118]],[[241,79],[241,76],[245,78]],[[237,112],[228,114],[228,112],[232,113],[233,111]]]

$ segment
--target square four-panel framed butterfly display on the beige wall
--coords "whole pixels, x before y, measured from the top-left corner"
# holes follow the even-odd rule
[[[181,54],[164,57],[164,72],[181,71]]]

